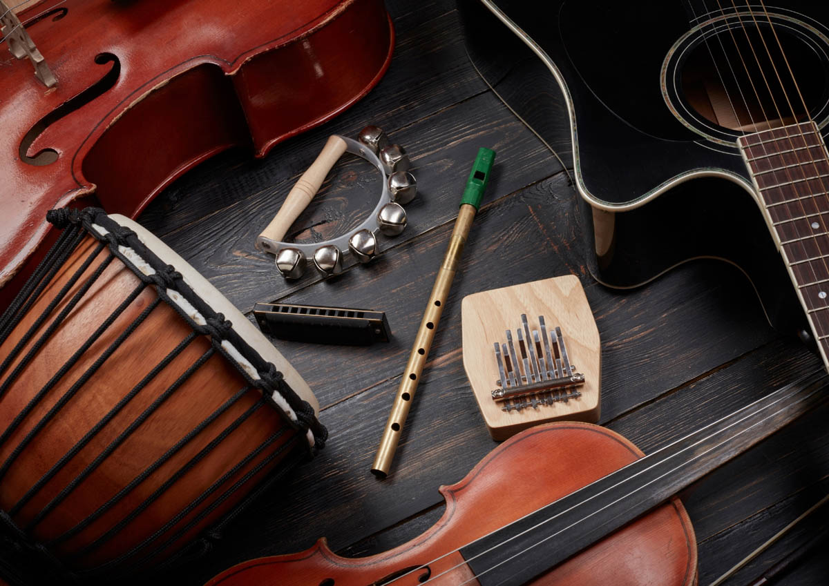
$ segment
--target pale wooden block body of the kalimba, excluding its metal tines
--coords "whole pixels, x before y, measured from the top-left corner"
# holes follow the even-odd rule
[[[500,377],[493,346],[507,341],[507,329],[515,336],[515,330],[521,327],[521,314],[526,314],[531,330],[538,329],[539,315],[544,316],[547,329],[560,326],[570,363],[585,377],[584,385],[578,387],[580,397],[521,411],[502,411],[502,405],[492,400],[492,390]],[[463,367],[492,439],[507,439],[545,421],[599,420],[599,329],[577,276],[556,276],[467,295],[461,316]]]

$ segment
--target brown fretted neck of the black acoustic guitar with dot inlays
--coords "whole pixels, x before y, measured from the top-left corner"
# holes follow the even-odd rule
[[[829,156],[823,137],[810,121],[737,143],[829,367]]]

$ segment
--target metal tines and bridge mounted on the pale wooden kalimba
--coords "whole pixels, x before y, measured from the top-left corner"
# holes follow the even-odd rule
[[[502,411],[538,409],[581,396],[577,387],[584,384],[584,374],[570,364],[561,328],[548,331],[543,315],[538,324],[539,329],[531,331],[526,314],[521,314],[521,328],[516,329],[520,361],[510,330],[505,332],[507,343],[494,343],[500,379],[492,400]]]

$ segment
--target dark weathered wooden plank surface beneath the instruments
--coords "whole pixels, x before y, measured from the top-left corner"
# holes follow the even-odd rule
[[[603,342],[601,423],[646,452],[817,367],[797,341],[768,327],[742,273],[692,262],[634,291],[599,286],[584,267],[578,197],[550,151],[488,91],[469,65],[452,2],[389,2],[398,34],[381,84],[340,118],[277,146],[262,161],[225,153],[177,181],[140,218],[243,311],[257,300],[371,307],[394,338],[369,348],[274,340],[308,380],[331,432],[326,449],[231,525],[210,556],[171,583],[201,584],[236,562],[289,553],[327,536],[343,555],[366,555],[419,535],[440,516],[441,484],[463,478],[495,444],[463,373],[460,300],[485,289],[574,273]],[[562,118],[562,128],[564,118]],[[282,280],[255,235],[332,132],[375,123],[404,145],[419,199],[405,233],[368,267],[332,281]],[[563,135],[561,144],[566,144]],[[376,444],[444,253],[478,146],[497,155],[420,383],[392,476],[369,473]],[[570,155],[560,152],[570,164]],[[377,184],[359,161],[326,181],[294,224],[322,240],[360,222]],[[700,546],[701,584],[786,525],[829,488],[823,409],[710,474],[681,495]],[[826,513],[829,515],[829,512]],[[742,584],[807,539],[800,531],[751,564]],[[826,584],[814,555],[781,584]]]

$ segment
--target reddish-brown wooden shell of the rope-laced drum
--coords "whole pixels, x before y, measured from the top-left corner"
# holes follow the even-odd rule
[[[81,571],[165,560],[270,473],[308,454],[308,434],[263,398],[218,351],[217,340],[194,333],[177,308],[159,300],[156,286],[110,255],[86,235],[0,345],[2,360],[82,271],[0,372],[0,509],[32,541]],[[110,315],[103,334],[60,376]],[[55,331],[15,376],[53,323]],[[152,378],[142,387],[145,377]]]

